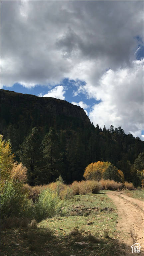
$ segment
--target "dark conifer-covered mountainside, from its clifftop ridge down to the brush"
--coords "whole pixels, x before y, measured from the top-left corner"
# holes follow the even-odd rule
[[[101,161],[140,186],[143,141],[120,126],[94,127],[83,112],[67,101],[1,90],[1,134],[27,168],[28,184],[49,184],[60,175],[67,184],[81,181],[85,168]]]

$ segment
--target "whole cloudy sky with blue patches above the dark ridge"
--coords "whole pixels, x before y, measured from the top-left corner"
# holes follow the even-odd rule
[[[1,0],[1,88],[143,140],[143,1]]]

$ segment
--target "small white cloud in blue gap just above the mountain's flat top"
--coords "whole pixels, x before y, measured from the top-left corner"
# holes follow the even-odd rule
[[[42,96],[42,93],[40,93],[38,96],[40,97],[53,97],[61,100],[65,100],[65,88],[62,85],[58,85],[55,88],[53,88],[51,91],[49,91],[47,94]]]

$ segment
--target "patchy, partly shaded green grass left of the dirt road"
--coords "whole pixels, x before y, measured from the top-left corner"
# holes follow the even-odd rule
[[[116,208],[103,191],[77,195],[64,202],[63,216],[43,220],[38,225],[34,221],[29,227],[2,229],[1,255],[123,255],[124,245],[118,244],[116,238],[117,219]],[[87,225],[88,222],[92,225]],[[81,241],[89,246],[74,244]]]

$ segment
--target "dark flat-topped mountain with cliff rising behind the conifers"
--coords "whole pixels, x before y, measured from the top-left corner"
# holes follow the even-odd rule
[[[12,134],[13,131],[8,130],[15,129],[17,144],[21,144],[34,127],[39,128],[42,134],[47,133],[51,126],[56,130],[91,127],[91,122],[84,110],[64,100],[3,89],[1,89],[0,98],[1,134],[9,137],[6,134]]]

